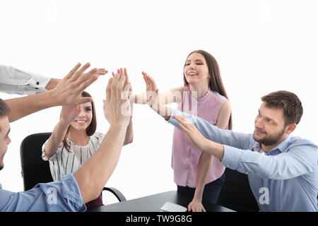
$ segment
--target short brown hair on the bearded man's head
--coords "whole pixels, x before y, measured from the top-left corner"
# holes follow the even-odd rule
[[[300,122],[302,118],[302,102],[294,93],[280,90],[261,97],[261,100],[266,103],[266,107],[283,109],[285,126]]]

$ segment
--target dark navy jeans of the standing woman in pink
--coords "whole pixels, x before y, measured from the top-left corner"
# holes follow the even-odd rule
[[[220,190],[225,182],[225,173],[222,174],[218,179],[210,182],[204,186],[204,193],[202,195],[202,201],[208,203],[216,203],[218,201],[218,196],[220,195]],[[189,186],[179,186],[177,185],[177,191],[186,194],[187,196],[194,196],[196,189],[190,188]]]

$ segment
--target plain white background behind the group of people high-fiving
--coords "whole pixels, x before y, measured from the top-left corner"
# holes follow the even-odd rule
[[[317,138],[317,1],[0,1],[0,64],[63,78],[73,66],[115,71],[126,67],[135,93],[141,71],[162,91],[183,85],[189,52],[216,57],[232,105],[233,130],[254,131],[260,97],[289,90],[304,114],[295,136]],[[95,98],[98,131],[106,132],[102,99],[111,73],[87,90]],[[2,99],[18,97],[1,93]],[[176,107],[176,105],[171,105]],[[0,173],[3,189],[22,191],[20,142],[52,131],[60,107],[11,124],[11,144]],[[170,167],[173,127],[134,106],[134,143],[122,149],[106,186],[127,199],[175,190]]]

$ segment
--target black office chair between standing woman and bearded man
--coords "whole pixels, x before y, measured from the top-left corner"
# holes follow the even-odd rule
[[[225,169],[225,183],[217,203],[240,212],[259,211],[247,175],[229,168]]]

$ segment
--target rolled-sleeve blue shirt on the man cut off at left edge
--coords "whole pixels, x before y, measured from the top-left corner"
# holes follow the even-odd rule
[[[21,192],[6,191],[0,184],[0,211],[7,212],[46,212],[46,211],[85,211],[73,174],[66,175],[59,182],[40,183],[33,189]]]

